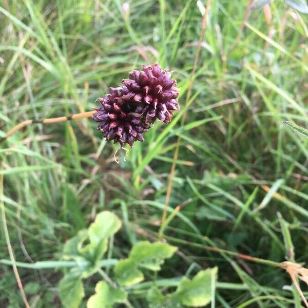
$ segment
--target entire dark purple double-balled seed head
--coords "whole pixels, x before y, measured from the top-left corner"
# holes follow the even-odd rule
[[[179,89],[171,79],[171,72],[160,65],[143,65],[134,70],[119,88],[110,88],[109,94],[98,99],[102,107],[95,108],[93,120],[107,140],[133,145],[144,141],[146,132],[156,119],[169,123],[174,110],[179,109]]]

